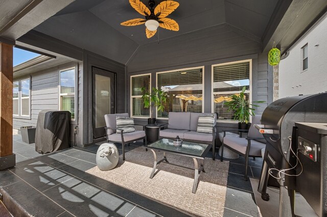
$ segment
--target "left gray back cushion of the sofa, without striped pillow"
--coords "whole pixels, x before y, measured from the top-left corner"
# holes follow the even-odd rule
[[[190,130],[190,117],[190,112],[170,112],[168,128]]]

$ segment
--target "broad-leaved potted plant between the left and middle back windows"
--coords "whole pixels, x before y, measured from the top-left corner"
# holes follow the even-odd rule
[[[167,93],[154,87],[152,88],[151,92],[147,92],[145,87],[143,87],[141,90],[144,93],[142,96],[144,107],[148,108],[151,106],[148,124],[154,124],[156,123],[156,119],[153,117],[154,108],[157,107],[157,111],[164,111],[164,103],[166,103]]]

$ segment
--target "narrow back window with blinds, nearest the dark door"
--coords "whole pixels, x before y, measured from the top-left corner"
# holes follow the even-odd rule
[[[145,108],[142,99],[142,88],[146,89],[146,92],[150,92],[151,75],[135,75],[131,76],[131,114],[132,117],[149,118],[150,108]]]

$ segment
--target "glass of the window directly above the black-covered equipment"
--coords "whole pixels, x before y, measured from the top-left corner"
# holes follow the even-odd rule
[[[60,71],[60,110],[69,111],[75,120],[76,67]]]

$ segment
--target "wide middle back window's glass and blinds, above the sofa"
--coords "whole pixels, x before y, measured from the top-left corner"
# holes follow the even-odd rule
[[[203,67],[158,72],[157,87],[168,95],[158,118],[168,118],[169,112],[203,112]]]

